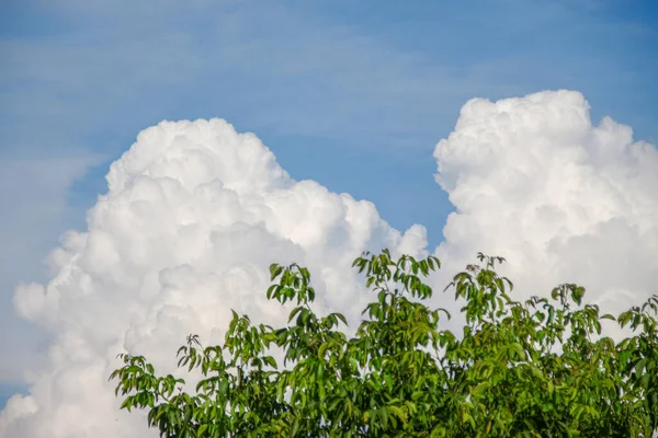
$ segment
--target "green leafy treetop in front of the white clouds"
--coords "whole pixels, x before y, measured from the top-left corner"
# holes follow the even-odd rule
[[[500,257],[478,254],[447,289],[465,320],[430,309],[423,283],[436,257],[365,253],[354,266],[376,300],[349,337],[340,313],[318,316],[309,272],[271,266],[268,298],[293,301],[287,326],[234,312],[224,345],[189,336],[179,367],[198,368],[194,393],[121,355],[122,408],[148,411],[161,437],[650,437],[658,426],[658,297],[617,318],[582,304],[566,284],[551,298],[511,299]],[[628,326],[615,343],[602,320]],[[275,351],[284,358],[280,366]]]

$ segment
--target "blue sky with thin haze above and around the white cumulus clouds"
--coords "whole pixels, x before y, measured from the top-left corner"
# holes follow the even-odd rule
[[[451,205],[434,145],[468,99],[575,89],[658,139],[655,1],[9,0],[0,4],[0,405],[47,334],[11,311],[109,163],[161,119],[223,117],[292,176],[375,203],[398,229]]]

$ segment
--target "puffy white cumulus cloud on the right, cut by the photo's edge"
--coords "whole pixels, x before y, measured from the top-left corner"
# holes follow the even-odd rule
[[[456,208],[436,252],[455,268],[502,255],[520,293],[578,283],[614,313],[657,292],[658,152],[592,125],[580,93],[472,100],[434,157]]]

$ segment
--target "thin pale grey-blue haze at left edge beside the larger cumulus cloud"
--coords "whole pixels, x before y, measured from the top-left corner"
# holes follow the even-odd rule
[[[0,384],[22,381],[26,364],[43,359],[45,334],[18,319],[11,297],[21,279],[46,278],[45,254],[67,227],[81,224],[67,188],[98,160],[93,155],[9,159],[0,155]],[[11,353],[10,353],[11,351]]]

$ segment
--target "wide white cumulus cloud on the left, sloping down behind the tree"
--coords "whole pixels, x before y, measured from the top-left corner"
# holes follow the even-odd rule
[[[292,180],[256,136],[220,119],[144,130],[107,184],[88,231],[50,255],[50,283],[16,291],[16,311],[54,339],[31,394],[0,414],[2,437],[143,437],[144,418],[117,412],[106,381],[117,353],[171,371],[184,336],[218,342],[231,308],[281,322],[286,311],[264,298],[272,262],[311,268],[319,311],[354,320],[365,293],[353,257],[427,245],[422,227],[401,234],[373,204]]]

